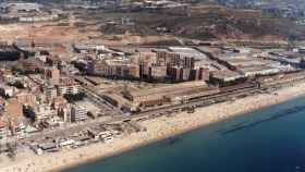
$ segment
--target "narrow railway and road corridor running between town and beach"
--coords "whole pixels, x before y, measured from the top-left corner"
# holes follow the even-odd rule
[[[304,82],[302,81],[296,81],[296,83]],[[277,85],[274,84],[273,86],[274,89],[281,88],[281,86],[290,86],[291,82]],[[194,99],[190,99],[186,102],[180,103],[180,105],[171,105],[171,106],[166,106],[166,107],[159,107],[158,109],[152,109],[152,110],[147,110],[147,111],[142,111],[134,113],[132,115],[115,115],[112,119],[101,121],[101,120],[95,120],[95,121],[88,121],[80,124],[72,124],[65,127],[61,128],[56,128],[52,131],[44,131],[41,133],[36,133],[33,135],[29,135],[24,139],[24,142],[30,142],[35,140],[38,138],[44,138],[44,137],[56,137],[56,136],[66,136],[71,135],[73,133],[77,133],[83,131],[86,127],[89,126],[95,126],[95,125],[100,125],[100,124],[111,124],[111,123],[121,123],[123,121],[138,121],[138,120],[147,120],[147,119],[152,119],[161,115],[167,115],[171,113],[176,113],[179,111],[186,110],[188,108],[199,108],[199,107],[206,107],[215,103],[220,103],[224,101],[230,101],[234,100],[241,97],[246,97],[255,94],[261,94],[261,93],[268,93],[266,89],[270,89],[271,87],[258,87],[257,84],[247,84],[244,86],[237,86],[237,87],[227,87],[227,88],[221,88],[218,94],[213,95],[208,95],[208,96],[203,96],[203,97],[197,97]],[[101,100],[100,100],[101,101]],[[103,100],[102,100],[103,101]],[[109,108],[109,107],[108,107]]]

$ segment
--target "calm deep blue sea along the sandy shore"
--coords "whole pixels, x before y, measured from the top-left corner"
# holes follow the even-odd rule
[[[188,171],[305,172],[305,97],[63,172]]]

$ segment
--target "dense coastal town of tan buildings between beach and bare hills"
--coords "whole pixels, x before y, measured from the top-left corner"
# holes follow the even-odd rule
[[[230,95],[249,96],[305,79],[298,52],[297,60],[288,62],[282,59],[288,52],[277,54],[273,50],[108,48],[78,42],[71,52],[60,48],[62,57],[73,57],[63,60],[58,51],[52,54],[54,45],[33,47],[20,41],[14,46],[21,46],[17,57],[2,53],[13,60],[4,58],[0,71],[0,139],[29,139],[54,130],[49,139],[45,139],[47,135],[35,137],[29,146],[39,155],[99,140],[110,143],[122,133],[143,131],[136,120],[193,113],[197,107],[234,99]],[[75,131],[61,130],[65,127]]]

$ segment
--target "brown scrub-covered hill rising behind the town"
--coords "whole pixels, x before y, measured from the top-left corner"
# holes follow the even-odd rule
[[[98,14],[99,15],[99,14]],[[114,16],[114,14],[108,14]],[[260,10],[241,10],[221,5],[194,4],[188,15],[168,12],[132,12],[127,14],[135,25],[102,25],[103,34],[156,35],[164,28],[170,35],[202,40],[210,39],[305,39],[305,26],[294,21],[272,16]],[[93,16],[93,15],[90,15]],[[117,17],[126,13],[115,13]]]

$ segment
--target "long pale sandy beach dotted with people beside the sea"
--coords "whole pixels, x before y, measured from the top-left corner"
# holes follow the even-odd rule
[[[244,114],[245,112],[263,107],[293,99],[304,93],[305,84],[297,84],[293,87],[278,90],[277,95],[260,94],[237,99],[233,102],[223,102],[196,109],[195,113],[182,112],[173,116],[161,116],[149,121],[143,121],[141,122],[141,125],[146,126],[147,132],[125,135],[120,138],[115,138],[112,143],[108,144],[98,143],[74,150],[63,150],[42,156],[36,156],[32,151],[25,151],[19,153],[14,161],[11,161],[2,156],[0,157],[0,171],[59,171],[78,163],[120,153],[158,139],[181,134],[228,118]]]

